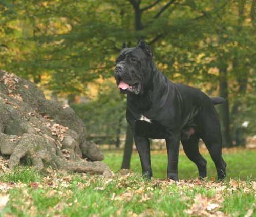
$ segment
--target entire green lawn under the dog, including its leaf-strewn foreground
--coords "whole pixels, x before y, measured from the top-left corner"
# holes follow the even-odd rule
[[[162,180],[164,151],[152,154],[151,181],[141,178],[137,153],[133,172],[120,173],[122,153],[106,152],[104,161],[115,171],[112,178],[18,167],[0,175],[0,216],[255,216],[255,154],[246,150],[224,154],[228,179],[223,183],[196,180],[196,166],[183,154],[181,181]],[[204,156],[209,177],[216,176],[208,154]]]

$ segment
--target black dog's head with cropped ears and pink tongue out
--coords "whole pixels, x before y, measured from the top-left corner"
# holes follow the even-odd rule
[[[128,48],[125,44],[116,59],[114,77],[121,93],[142,94],[152,69],[152,50],[144,40]]]

